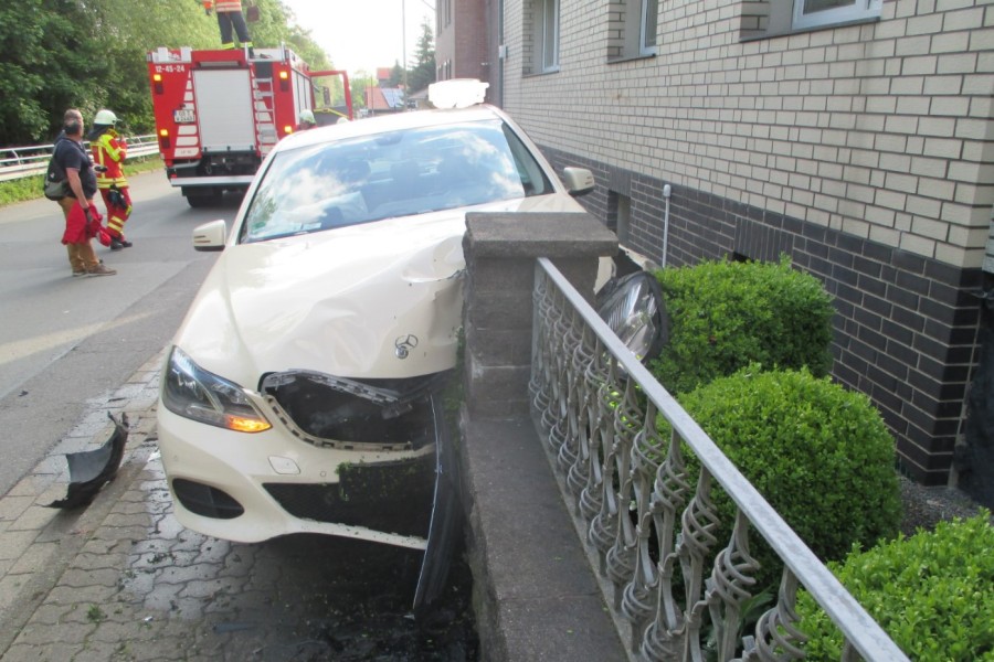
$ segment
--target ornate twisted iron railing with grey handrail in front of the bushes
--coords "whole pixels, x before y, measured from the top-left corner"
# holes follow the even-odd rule
[[[842,660],[907,661],[547,259],[536,267],[533,300],[537,426],[633,660],[801,660],[801,585],[842,631]],[[673,428],[669,439],[657,431],[659,415]],[[700,461],[697,476],[681,442]],[[728,541],[716,536],[717,485],[738,506]],[[749,553],[753,535],[780,556],[784,572],[776,604],[740,638],[759,568]]]

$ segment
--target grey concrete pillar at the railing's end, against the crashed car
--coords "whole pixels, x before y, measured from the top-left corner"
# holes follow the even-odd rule
[[[617,237],[586,213],[469,213],[466,226],[466,409],[470,418],[528,416],[536,258],[551,259],[593,301],[599,260],[617,252]]]

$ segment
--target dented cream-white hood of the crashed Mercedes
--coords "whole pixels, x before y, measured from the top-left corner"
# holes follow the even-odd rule
[[[548,195],[474,211],[582,207]],[[287,370],[395,378],[451,369],[462,324],[465,213],[229,244],[175,342],[205,370],[250,388]]]

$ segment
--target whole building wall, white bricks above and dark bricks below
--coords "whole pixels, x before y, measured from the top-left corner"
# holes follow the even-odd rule
[[[741,2],[660,3],[657,55],[609,62],[613,3],[561,0],[560,65],[537,75],[538,6],[506,3],[504,106],[557,167],[595,172],[590,211],[668,266],[786,253],[818,276],[834,376],[873,397],[908,473],[945,482],[994,203],[994,6],[898,0],[755,39]]]

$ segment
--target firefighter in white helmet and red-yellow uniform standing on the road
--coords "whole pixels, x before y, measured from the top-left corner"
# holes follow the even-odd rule
[[[107,207],[110,250],[131,247],[131,243],[124,236],[124,225],[131,215],[131,194],[128,190],[128,180],[124,175],[128,142],[114,128],[116,125],[117,116],[114,113],[101,110],[96,114],[93,130],[87,136],[97,171],[97,189]]]

